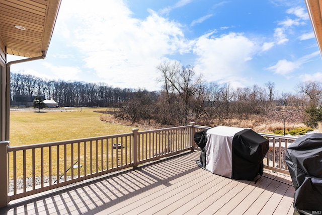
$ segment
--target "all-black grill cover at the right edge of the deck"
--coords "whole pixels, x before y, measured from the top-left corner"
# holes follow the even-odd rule
[[[322,210],[322,134],[304,135],[289,145],[285,162],[290,172],[294,193],[294,208]]]

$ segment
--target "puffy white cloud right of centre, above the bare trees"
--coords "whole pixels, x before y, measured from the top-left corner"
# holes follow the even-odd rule
[[[229,33],[220,37],[206,34],[196,40],[196,71],[209,81],[229,80],[240,83],[240,74],[248,68],[257,45],[243,34]]]

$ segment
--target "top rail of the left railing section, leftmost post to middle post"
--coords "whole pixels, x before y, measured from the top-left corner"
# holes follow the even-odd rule
[[[96,136],[96,137],[90,137],[90,138],[70,139],[70,140],[62,140],[62,141],[56,141],[56,142],[45,142],[42,144],[31,144],[31,145],[16,146],[16,147],[9,146],[8,152],[29,150],[29,149],[36,149],[36,148],[44,148],[44,147],[53,147],[53,146],[59,146],[59,145],[74,144],[76,142],[88,142],[88,141],[95,141],[95,140],[100,140],[100,139],[124,137],[124,136],[131,136],[131,135],[133,135],[133,133],[122,133],[122,134],[113,134],[113,135],[106,135],[106,136]]]

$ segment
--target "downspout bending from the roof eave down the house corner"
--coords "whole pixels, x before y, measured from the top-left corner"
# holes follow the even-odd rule
[[[38,57],[31,57],[31,58],[26,58],[26,59],[21,59],[21,60],[14,60],[10,61],[6,64],[6,140],[10,139],[10,66],[12,64],[16,63],[23,63],[23,62],[28,62],[28,61],[33,61],[33,60],[39,60],[39,59],[44,59],[46,57],[46,52],[42,51],[42,55]]]

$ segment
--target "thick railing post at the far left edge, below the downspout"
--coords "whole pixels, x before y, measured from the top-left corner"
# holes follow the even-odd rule
[[[9,203],[8,197],[8,153],[9,141],[0,141],[0,207]]]

